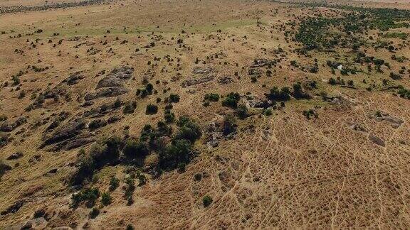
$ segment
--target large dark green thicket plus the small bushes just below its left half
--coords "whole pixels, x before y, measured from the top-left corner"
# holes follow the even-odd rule
[[[145,125],[138,139],[110,137],[98,141],[85,154],[80,150],[80,164],[78,170],[70,177],[72,185],[82,185],[85,180],[90,180],[96,170],[105,165],[124,163],[127,165],[142,166],[144,158],[152,152],[158,154],[158,162],[154,170],[184,169],[185,165],[194,158],[193,145],[201,135],[201,128],[186,116],[180,116],[177,121],[177,131],[173,134],[172,127],[164,121],[159,121],[157,127]],[[137,173],[135,173],[137,172]],[[130,177],[125,179],[125,194],[127,204],[132,204],[132,194],[135,190],[135,178],[138,178],[139,186],[144,185],[147,178],[140,170],[132,170]],[[120,181],[112,177],[109,191],[114,191],[120,185]],[[73,194],[73,208],[78,207],[81,202],[86,202],[87,207],[93,207],[96,200],[101,197],[102,205],[112,202],[109,192],[100,195],[98,188],[85,188]],[[93,209],[90,218],[98,215],[99,210]]]

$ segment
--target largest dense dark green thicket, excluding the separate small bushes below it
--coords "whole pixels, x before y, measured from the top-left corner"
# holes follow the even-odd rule
[[[188,117],[180,116],[177,131],[173,133],[172,129],[167,122],[159,121],[157,127],[145,125],[137,139],[117,136],[102,138],[91,146],[88,153],[80,150],[78,169],[71,175],[70,184],[82,185],[90,181],[94,172],[105,165],[125,163],[141,166],[144,158],[152,152],[159,156],[158,164],[155,165],[158,172],[189,163],[195,155],[192,146],[201,137],[201,128]],[[115,185],[117,182],[110,182],[110,187],[114,188]]]

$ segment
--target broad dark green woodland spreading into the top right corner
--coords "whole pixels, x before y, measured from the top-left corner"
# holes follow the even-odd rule
[[[325,18],[322,15],[305,18],[300,23],[295,40],[303,44],[303,49],[329,50],[336,47],[357,50],[364,40],[357,36],[364,35],[370,29],[388,31],[390,28],[409,28],[410,11],[402,9],[363,8],[354,6],[335,6],[331,4],[303,4],[303,6],[329,7],[347,12],[341,17]],[[388,37],[405,38],[404,33],[387,33]]]

